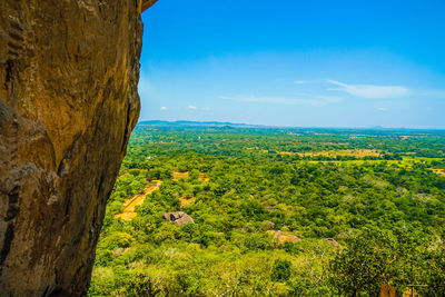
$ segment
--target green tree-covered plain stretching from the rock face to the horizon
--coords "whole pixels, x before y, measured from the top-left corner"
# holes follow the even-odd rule
[[[139,125],[89,295],[444,296],[441,169],[443,131]]]

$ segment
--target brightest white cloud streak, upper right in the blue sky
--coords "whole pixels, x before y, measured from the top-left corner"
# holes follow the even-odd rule
[[[329,91],[344,91],[353,96],[368,99],[399,98],[412,95],[412,90],[402,86],[375,86],[375,85],[347,85],[337,80],[327,79],[327,82],[338,86]]]

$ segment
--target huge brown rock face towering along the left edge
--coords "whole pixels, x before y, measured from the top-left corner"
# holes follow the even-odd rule
[[[0,1],[1,296],[87,291],[139,115],[142,4]]]

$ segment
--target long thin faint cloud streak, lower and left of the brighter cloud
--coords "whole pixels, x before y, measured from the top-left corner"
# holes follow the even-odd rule
[[[220,99],[244,101],[244,102],[261,102],[261,103],[275,103],[275,105],[288,105],[288,106],[313,106],[322,107],[328,102],[339,101],[339,97],[324,97],[324,96],[312,96],[307,99],[303,98],[288,98],[288,97],[265,97],[265,96],[220,96]]]

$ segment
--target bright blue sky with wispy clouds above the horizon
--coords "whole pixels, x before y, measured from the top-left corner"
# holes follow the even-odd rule
[[[445,128],[445,1],[159,0],[140,120]]]

